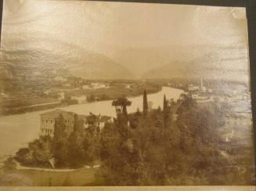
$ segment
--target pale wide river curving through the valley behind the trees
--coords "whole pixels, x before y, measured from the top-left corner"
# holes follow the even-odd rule
[[[183,90],[171,87],[163,87],[156,94],[149,94],[148,101],[152,102],[152,108],[162,107],[164,94],[168,99],[177,100]],[[142,96],[129,97],[132,105],[128,107],[128,112],[134,112],[137,108],[142,111]],[[98,101],[85,104],[75,104],[61,109],[74,111],[81,115],[88,115],[89,112],[94,114],[115,116],[115,109],[111,105],[112,101]],[[50,109],[53,110],[53,109]],[[38,138],[40,128],[40,114],[46,111],[34,111],[20,115],[9,115],[0,118],[0,161],[1,159],[14,154],[20,147],[25,147],[27,143]]]

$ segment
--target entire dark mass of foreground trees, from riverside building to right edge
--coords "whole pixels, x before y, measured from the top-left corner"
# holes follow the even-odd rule
[[[143,111],[132,114],[127,113],[126,106],[132,104],[127,98],[114,101],[122,111],[102,130],[96,115],[89,116],[86,129],[76,115],[69,133],[60,115],[53,138],[34,140],[15,159],[47,168],[100,164],[93,183],[99,186],[253,184],[254,173],[241,171],[236,160],[226,157],[232,152],[219,131],[225,118],[218,101],[199,104],[186,97],[175,102],[164,96],[163,109],[150,109],[146,91],[143,99]],[[240,160],[249,168],[253,164],[252,158]]]

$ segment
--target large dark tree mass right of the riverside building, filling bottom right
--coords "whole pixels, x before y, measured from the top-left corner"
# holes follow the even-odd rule
[[[250,177],[253,173],[241,173],[223,155],[225,150],[220,146],[225,143],[218,131],[225,123],[222,111],[218,103],[204,107],[186,97],[185,101],[172,104],[164,98],[163,110],[148,111],[146,116],[139,111],[128,119],[119,115],[101,133],[102,166],[96,174],[96,183],[109,186],[253,184]]]

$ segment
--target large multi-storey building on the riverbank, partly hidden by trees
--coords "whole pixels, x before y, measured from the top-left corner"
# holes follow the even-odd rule
[[[54,135],[54,126],[56,119],[62,115],[64,118],[65,125],[67,126],[68,133],[71,133],[74,129],[74,115],[76,113],[70,111],[64,111],[61,109],[56,109],[53,111],[48,111],[41,114],[41,126],[40,126],[40,136],[53,136]],[[83,126],[87,129],[92,124],[89,122],[88,115],[78,115],[78,118],[83,120]],[[103,129],[106,122],[113,122],[113,118],[106,115],[96,115],[95,125],[99,126],[99,129]]]

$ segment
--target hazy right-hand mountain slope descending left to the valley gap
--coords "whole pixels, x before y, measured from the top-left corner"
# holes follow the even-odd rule
[[[230,65],[240,62],[241,65]],[[171,79],[204,77],[211,80],[247,81],[249,71],[243,65],[247,63],[246,57],[223,57],[218,52],[200,56],[188,62],[170,62],[167,65],[151,69],[142,75],[143,79]],[[247,66],[247,65],[244,65]]]

